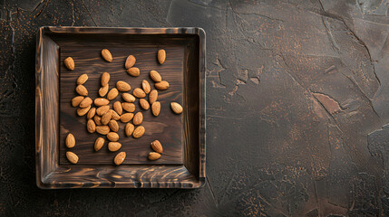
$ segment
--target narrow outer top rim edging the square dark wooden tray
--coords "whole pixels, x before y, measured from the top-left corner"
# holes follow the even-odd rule
[[[43,137],[43,111],[41,103],[43,101],[41,94],[41,71],[43,71],[42,55],[43,36],[46,33],[89,33],[89,34],[195,34],[199,36],[199,177],[197,183],[190,183],[188,181],[180,182],[156,182],[158,184],[153,185],[155,182],[149,184],[138,184],[133,181],[121,184],[112,185],[92,185],[86,186],[80,182],[69,182],[69,186],[66,184],[57,184],[50,182],[50,175],[59,171],[58,169],[64,166],[59,166],[58,162],[55,162],[54,168],[56,169],[52,173],[42,177],[42,168],[44,167],[43,152],[41,152],[41,140]],[[199,27],[169,27],[169,28],[148,28],[148,27],[83,27],[83,26],[42,26],[37,31],[36,50],[35,50],[35,171],[36,171],[36,185],[41,189],[63,189],[63,188],[199,188],[205,185],[206,181],[206,33]],[[53,145],[53,146],[56,146]],[[73,165],[77,167],[77,165]],[[155,166],[155,165],[150,165]],[[165,166],[165,165],[160,165]],[[185,167],[184,165],[182,165]],[[80,167],[88,168],[85,165]],[[112,166],[99,166],[98,169],[107,169]],[[131,167],[131,166],[126,166]],[[178,166],[177,168],[179,168]],[[63,171],[62,171],[63,172]],[[179,184],[177,184],[179,183]],[[188,184],[189,183],[189,184]]]

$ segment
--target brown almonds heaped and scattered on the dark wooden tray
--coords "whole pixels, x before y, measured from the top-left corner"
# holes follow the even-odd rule
[[[160,50],[157,52],[158,61],[160,64],[163,64],[166,60],[165,50]],[[113,60],[112,54],[107,49],[102,50],[102,58],[105,61],[111,62]],[[127,57],[127,60],[124,63],[126,71],[129,75],[137,77],[141,74],[139,68],[134,67],[136,63],[136,58],[133,55]],[[68,70],[73,71],[75,68],[74,61],[72,57],[68,57],[64,60],[64,65]],[[145,127],[141,126],[143,122],[142,112],[135,111],[135,100],[139,99],[141,109],[148,110],[151,108],[153,116],[157,117],[160,115],[160,102],[158,99],[158,90],[167,90],[169,88],[169,82],[162,80],[160,73],[158,71],[150,71],[151,80],[153,80],[154,87],[157,90],[151,90],[151,85],[147,80],[142,80],[141,88],[136,88],[130,93],[131,85],[126,81],[119,80],[116,82],[116,87],[113,87],[110,90],[109,81],[111,79],[110,73],[104,72],[101,77],[102,87],[99,90],[100,98],[91,99],[88,97],[88,90],[83,86],[83,84],[88,80],[87,74],[82,74],[76,80],[77,87],[75,91],[79,96],[76,96],[72,99],[72,106],[78,107],[77,115],[85,116],[88,119],[86,124],[86,130],[89,133],[98,133],[102,137],[98,137],[94,142],[94,150],[97,152],[102,149],[105,143],[105,136],[108,142],[108,149],[112,152],[116,152],[121,149],[122,144],[119,142],[120,137],[117,134],[120,127],[118,121],[125,123],[124,132],[127,137],[139,138],[143,136],[145,132]],[[114,99],[117,99],[119,95],[122,95],[123,102]],[[145,99],[149,95],[149,100]],[[112,109],[111,109],[112,105]],[[182,112],[182,107],[177,102],[171,102],[170,108],[176,114]],[[132,120],[132,123],[130,122]],[[75,146],[75,137],[73,134],[69,133],[65,141],[67,148],[73,148]],[[151,142],[151,148],[154,152],[149,154],[149,160],[158,160],[160,154],[163,152],[162,145],[159,140],[154,140]],[[74,154],[71,151],[66,152],[67,159],[73,163],[77,164],[79,156]],[[126,158],[125,152],[120,152],[117,154],[113,163],[115,165],[121,165]]]

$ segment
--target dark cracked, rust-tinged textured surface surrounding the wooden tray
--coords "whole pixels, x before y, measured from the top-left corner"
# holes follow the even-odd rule
[[[384,0],[0,0],[1,216],[389,215]],[[207,184],[40,190],[42,25],[207,32]]]

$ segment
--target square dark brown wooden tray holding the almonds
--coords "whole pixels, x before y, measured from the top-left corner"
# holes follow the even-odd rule
[[[205,180],[205,33],[199,28],[86,28],[42,27],[37,35],[35,146],[36,183],[41,188],[73,187],[152,187],[197,188]],[[112,52],[113,61],[102,59],[101,51]],[[167,52],[160,65],[159,49]],[[124,69],[128,55],[135,55],[141,76],[134,78]],[[63,60],[72,56],[76,68],[68,71]],[[143,137],[124,136],[120,123],[120,142],[127,157],[122,165],[113,165],[118,152],[108,151],[105,144],[93,150],[98,134],[86,131],[86,118],[78,117],[71,106],[76,96],[78,76],[87,73],[85,87],[92,99],[98,97],[102,72],[110,72],[110,89],[116,81],[141,87],[141,80],[153,81],[149,71],[159,71],[170,82],[168,90],[159,91],[161,111],[153,117],[144,111],[146,128]],[[130,91],[131,92],[131,91]],[[120,96],[115,100],[121,100]],[[175,115],[170,102],[183,105]],[[138,100],[136,111],[140,111]],[[65,137],[76,138],[72,151],[80,156],[77,165],[66,159]],[[163,155],[149,161],[151,141],[159,139]]]

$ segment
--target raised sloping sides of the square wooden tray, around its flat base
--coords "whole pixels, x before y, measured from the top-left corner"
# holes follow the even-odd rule
[[[59,165],[59,49],[53,34],[194,35],[194,52],[184,65],[183,165]],[[122,187],[198,188],[205,183],[205,32],[200,28],[41,27],[37,33],[35,69],[36,184],[40,188]]]

